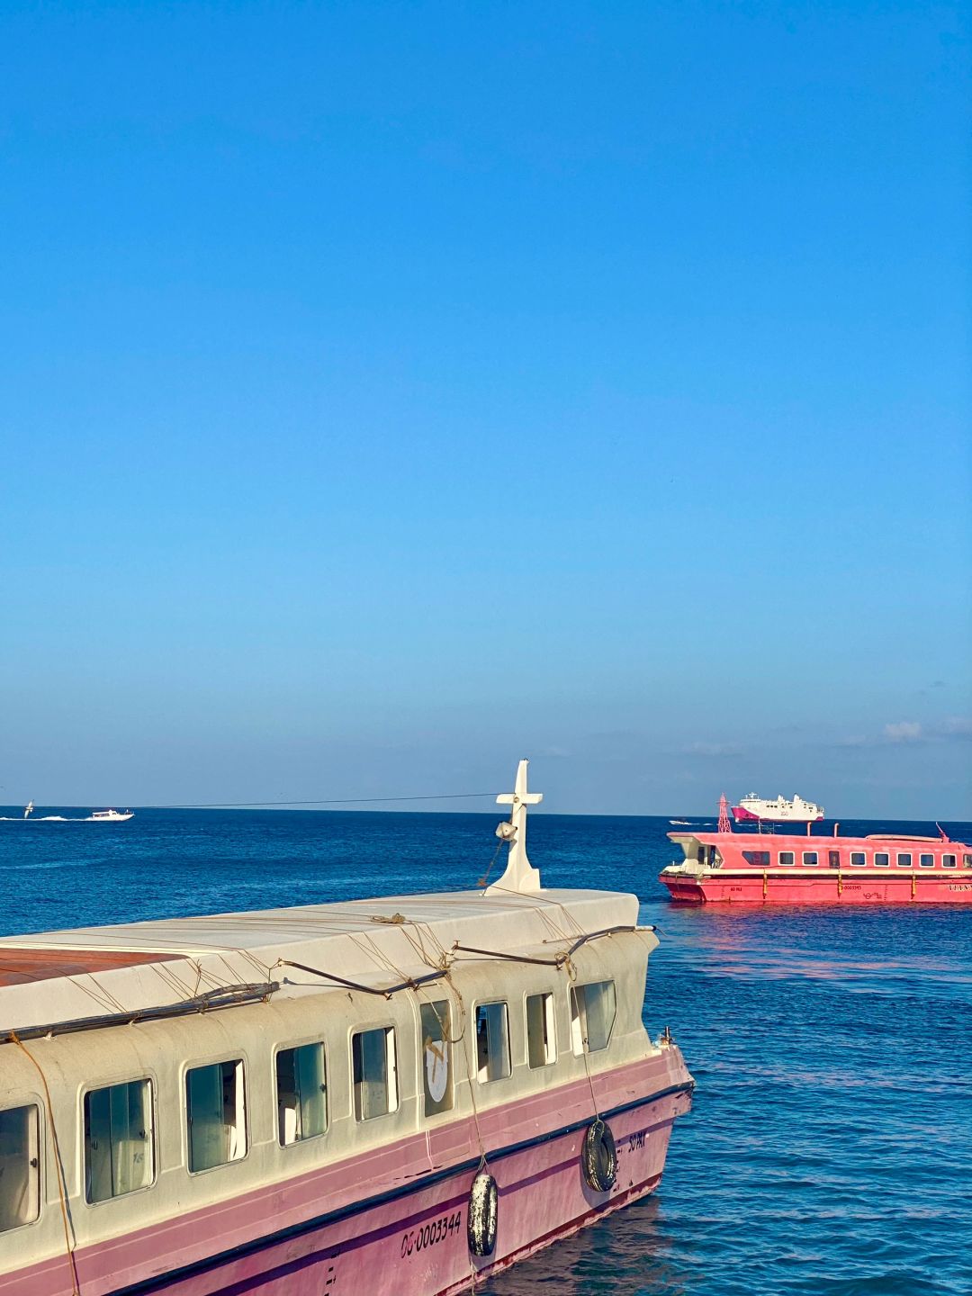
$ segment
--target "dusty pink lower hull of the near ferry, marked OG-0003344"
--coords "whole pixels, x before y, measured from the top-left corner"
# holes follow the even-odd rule
[[[290,1181],[224,1201],[194,1217],[75,1252],[82,1292],[84,1296],[470,1292],[480,1275],[495,1274],[575,1232],[595,1217],[651,1192],[661,1178],[671,1125],[691,1107],[692,1081],[674,1046],[660,1058],[595,1077],[599,1103],[629,1095],[627,1102],[604,1112],[618,1152],[617,1178],[608,1192],[592,1191],[581,1169],[584,1131],[592,1118],[590,1087],[584,1082],[568,1089],[570,1093],[560,1087],[516,1104],[526,1109],[494,1108],[480,1117],[489,1170],[499,1187],[496,1247],[487,1258],[470,1257],[467,1242],[469,1188],[478,1161],[470,1163],[465,1155],[461,1164],[439,1168],[448,1160],[448,1148],[468,1153],[476,1140],[473,1122],[463,1122],[461,1129],[443,1126],[437,1131],[438,1155],[430,1146],[434,1134],[428,1140],[420,1135],[417,1143],[410,1139],[408,1146],[382,1150],[384,1192],[369,1191],[376,1179],[365,1165],[362,1170],[368,1177],[358,1182],[354,1165],[332,1168],[332,1177],[343,1185],[346,1203],[336,1200],[334,1209],[325,1214],[310,1209],[320,1205],[316,1181]],[[565,1118],[579,1115],[583,1089],[587,1089],[587,1113],[565,1128]],[[556,1122],[553,1128],[551,1122]],[[71,1275],[65,1258],[0,1277],[0,1296],[70,1293]]]

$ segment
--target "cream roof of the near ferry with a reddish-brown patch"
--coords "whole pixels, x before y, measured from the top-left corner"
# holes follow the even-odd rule
[[[490,888],[8,936],[0,938],[0,1039],[268,982],[286,995],[320,993],[338,978],[381,990],[428,976],[447,958],[527,950],[553,958],[583,936],[636,921],[635,896]]]

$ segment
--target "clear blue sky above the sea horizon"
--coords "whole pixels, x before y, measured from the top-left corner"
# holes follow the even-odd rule
[[[967,6],[0,49],[0,800],[972,818]]]

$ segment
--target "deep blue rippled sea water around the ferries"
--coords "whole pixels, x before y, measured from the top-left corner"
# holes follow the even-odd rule
[[[490,863],[494,822],[238,810],[4,822],[0,934],[467,888]],[[972,824],[945,827],[972,840]],[[972,906],[677,908],[657,881],[675,854],[667,831],[657,818],[530,820],[546,884],[635,892],[658,925],[645,1023],[671,1026],[699,1087],[656,1195],[486,1292],[968,1296]]]

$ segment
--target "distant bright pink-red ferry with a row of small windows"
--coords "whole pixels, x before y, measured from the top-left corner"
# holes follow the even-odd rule
[[[670,832],[660,881],[688,905],[972,905],[972,848],[940,837]]]

